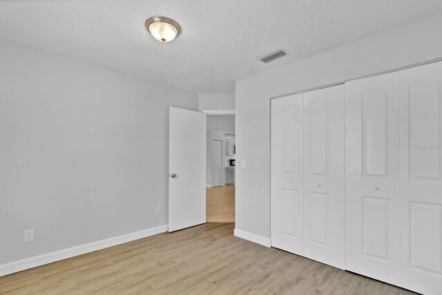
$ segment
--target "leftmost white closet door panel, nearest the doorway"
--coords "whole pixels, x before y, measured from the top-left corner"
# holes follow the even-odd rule
[[[303,254],[303,95],[271,101],[271,245]]]

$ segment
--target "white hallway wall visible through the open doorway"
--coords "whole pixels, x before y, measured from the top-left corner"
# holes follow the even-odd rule
[[[235,115],[208,115],[207,116],[207,160],[206,160],[206,185],[211,186],[211,175],[212,175],[212,140],[222,140],[223,146],[223,163],[227,161],[227,156],[225,155],[225,134],[235,134],[235,129],[230,129],[235,127]],[[213,131],[212,129],[224,129],[220,131]],[[230,157],[231,158],[231,157]]]

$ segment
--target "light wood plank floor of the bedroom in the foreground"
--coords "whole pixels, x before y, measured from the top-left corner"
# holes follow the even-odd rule
[[[413,294],[206,223],[0,278],[0,294]]]

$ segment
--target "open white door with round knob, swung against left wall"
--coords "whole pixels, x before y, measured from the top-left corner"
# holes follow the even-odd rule
[[[169,109],[169,231],[206,221],[206,114]]]

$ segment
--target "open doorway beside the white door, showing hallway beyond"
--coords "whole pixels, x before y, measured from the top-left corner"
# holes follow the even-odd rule
[[[207,115],[206,222],[235,222],[235,115]]]

